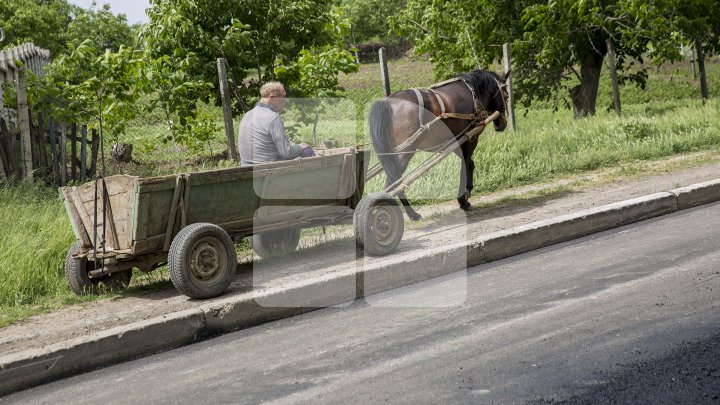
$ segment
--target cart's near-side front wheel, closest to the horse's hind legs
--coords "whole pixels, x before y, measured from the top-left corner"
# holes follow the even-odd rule
[[[405,232],[400,206],[387,193],[372,193],[360,200],[353,219],[357,245],[374,256],[394,252]]]

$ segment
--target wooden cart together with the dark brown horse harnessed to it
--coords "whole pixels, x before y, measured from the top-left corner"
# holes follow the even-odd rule
[[[406,90],[376,102],[369,126],[380,163],[369,171],[369,151],[340,148],[305,159],[165,177],[112,176],[63,188],[77,237],[66,257],[68,282],[78,294],[101,284],[117,288],[129,283],[133,268],[167,263],[182,293],[213,297],[235,274],[235,242],[251,237],[255,253],[267,257],[295,250],[300,229],[331,224],[352,223],[366,253],[389,254],[404,232],[396,197],[419,219],[404,191],[450,153],[461,151],[467,179],[461,176],[458,202],[470,207],[477,139],[498,118],[495,129],[505,128],[504,80],[477,70],[425,93]],[[427,120],[426,112],[435,118]],[[407,133],[415,118],[417,129]],[[391,134],[400,137],[388,141]],[[403,176],[418,149],[435,155]],[[362,197],[365,182],[383,171],[385,192]]]

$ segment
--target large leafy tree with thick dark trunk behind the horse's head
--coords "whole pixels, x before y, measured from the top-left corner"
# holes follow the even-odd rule
[[[391,23],[430,56],[438,76],[500,62],[501,45],[510,42],[519,100],[529,106],[555,99],[557,108],[556,94],[565,89],[570,100],[560,100],[584,117],[595,114],[608,40],[621,80],[639,85],[647,75],[628,69],[635,60],[680,57],[678,32],[663,6],[650,0],[409,0]]]

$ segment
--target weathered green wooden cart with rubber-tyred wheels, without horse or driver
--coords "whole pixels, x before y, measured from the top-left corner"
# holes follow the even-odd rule
[[[395,198],[364,198],[369,152],[355,148],[248,167],[140,178],[118,175],[61,189],[77,242],[65,273],[78,294],[126,286],[132,269],[168,263],[193,298],[222,294],[237,266],[234,243],[251,237],[270,256],[294,250],[300,229],[354,224],[360,247],[393,252],[404,231]]]

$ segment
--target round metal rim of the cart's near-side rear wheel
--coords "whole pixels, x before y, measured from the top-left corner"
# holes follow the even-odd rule
[[[199,284],[215,284],[222,278],[227,264],[225,245],[212,236],[200,238],[190,250],[190,272]]]

